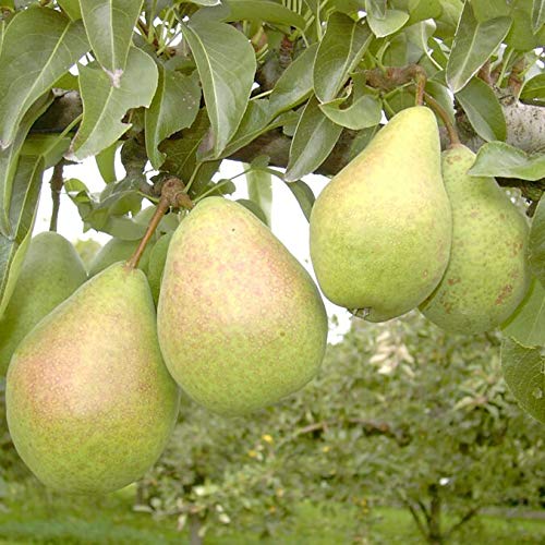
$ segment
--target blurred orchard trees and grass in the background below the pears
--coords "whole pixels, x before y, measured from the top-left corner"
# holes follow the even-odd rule
[[[544,428],[498,338],[416,313],[354,322],[316,380],[250,416],[184,398],[159,462],[104,498],[39,485],[0,407],[1,543],[545,543]]]

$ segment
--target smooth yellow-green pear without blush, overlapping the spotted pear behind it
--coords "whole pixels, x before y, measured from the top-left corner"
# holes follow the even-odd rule
[[[447,267],[452,221],[435,116],[400,111],[323,190],[311,258],[324,294],[370,322],[417,306]]]

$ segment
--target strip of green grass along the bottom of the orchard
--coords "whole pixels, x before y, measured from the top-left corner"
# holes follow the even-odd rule
[[[51,495],[43,487],[9,485],[0,511],[0,544],[114,544],[162,545],[187,543],[175,530],[173,519],[155,520],[132,511],[133,489],[106,498],[88,499]],[[1,505],[0,505],[1,506]],[[231,529],[217,535],[211,530],[207,545],[331,545],[350,544],[354,535],[354,507],[327,509],[302,504],[293,523],[275,537],[263,538],[251,531]],[[470,532],[470,533],[468,533]],[[519,545],[545,543],[545,520],[482,516],[452,544]],[[408,512],[377,508],[372,522],[362,529],[367,543],[421,544]]]

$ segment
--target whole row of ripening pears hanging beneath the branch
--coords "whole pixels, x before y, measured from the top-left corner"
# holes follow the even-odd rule
[[[506,320],[528,289],[528,225],[493,179],[468,174],[473,160],[455,145],[441,165],[428,109],[393,117],[314,205],[311,256],[325,295],[373,322],[417,306],[465,334]],[[157,314],[142,270],[93,268],[85,281],[68,241],[36,237],[0,322],[10,432],[53,488],[106,493],[142,476],[170,436],[179,386],[237,415],[319,368],[319,292],[237,203],[205,198],[177,228]]]

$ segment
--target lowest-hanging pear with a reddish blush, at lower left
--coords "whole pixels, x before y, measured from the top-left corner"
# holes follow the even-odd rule
[[[114,264],[46,316],[13,354],[5,404],[17,452],[47,486],[104,494],[140,479],[172,432],[144,272]]]

